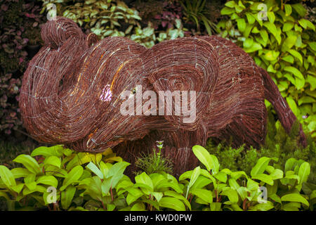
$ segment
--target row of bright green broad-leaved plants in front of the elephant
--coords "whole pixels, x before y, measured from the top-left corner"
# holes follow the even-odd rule
[[[314,209],[315,185],[306,182],[308,162],[290,158],[284,169],[277,169],[269,165],[275,159],[263,157],[246,174],[220,169],[218,158],[202,146],[192,150],[206,169],[196,167],[179,179],[143,172],[134,183],[124,175],[129,163],[110,149],[91,154],[39,147],[13,160],[23,167],[0,165],[0,199],[8,210]]]

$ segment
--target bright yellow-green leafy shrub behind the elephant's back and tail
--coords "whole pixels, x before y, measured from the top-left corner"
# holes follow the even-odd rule
[[[315,25],[301,3],[285,2],[228,1],[218,28],[269,72],[298,120],[310,115],[305,122],[315,131]]]

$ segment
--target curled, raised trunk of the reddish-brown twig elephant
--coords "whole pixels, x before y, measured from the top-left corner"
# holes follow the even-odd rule
[[[44,46],[29,62],[22,79],[22,122],[37,141],[67,143],[80,139],[87,132],[83,124],[91,117],[82,117],[84,103],[78,94],[72,96],[73,101],[65,98],[79,76],[75,68],[80,67],[87,49],[84,33],[73,21],[58,17],[42,27],[41,37]]]

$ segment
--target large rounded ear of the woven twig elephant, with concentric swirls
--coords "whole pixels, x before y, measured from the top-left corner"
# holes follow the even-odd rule
[[[196,130],[209,110],[218,76],[218,57],[197,38],[164,41],[144,56],[148,79],[159,96],[158,115],[173,127]]]

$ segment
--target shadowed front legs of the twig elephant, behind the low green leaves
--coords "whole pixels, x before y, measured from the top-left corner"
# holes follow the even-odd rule
[[[197,131],[152,131],[143,139],[136,141],[125,141],[113,148],[118,156],[130,162],[131,165],[126,168],[125,174],[131,179],[138,170],[136,160],[142,154],[150,154],[155,148],[156,141],[164,141],[162,148],[162,156],[168,158],[173,163],[173,175],[178,177],[183,172],[194,169],[199,164],[197,158],[192,152],[192,146],[205,146],[207,139],[207,130],[205,126],[200,126]]]

